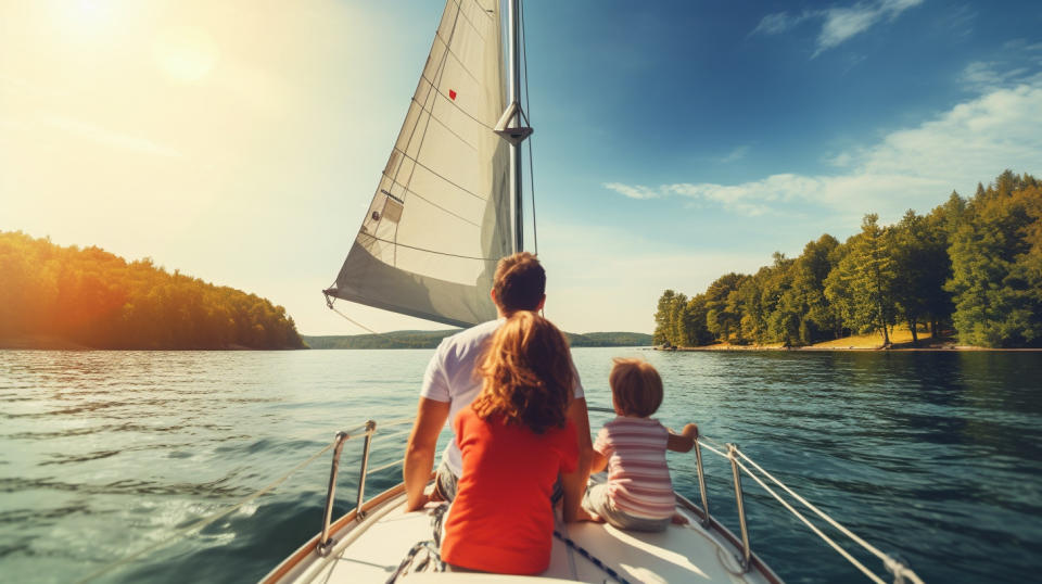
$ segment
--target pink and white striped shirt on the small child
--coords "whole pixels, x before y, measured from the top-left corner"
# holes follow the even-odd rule
[[[594,449],[608,459],[608,496],[634,517],[665,519],[676,499],[665,462],[669,430],[653,418],[617,417],[597,434]]]

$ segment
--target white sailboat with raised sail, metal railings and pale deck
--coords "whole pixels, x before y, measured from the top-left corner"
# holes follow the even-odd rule
[[[344,300],[460,327],[495,318],[496,263],[524,249],[521,144],[532,134],[521,100],[520,0],[506,3],[504,59],[499,0],[446,1],[372,202],[325,291],[330,307]],[[686,525],[635,533],[558,520],[550,566],[537,576],[425,572],[439,564],[444,507],[406,512],[403,484],[365,497],[378,428],[409,423],[369,421],[336,434],[321,531],[263,582],[780,582],[749,543],[738,474],[748,467],[736,446],[719,444],[696,444],[701,505],[676,495]],[[334,519],[341,450],[351,439],[364,440],[356,505]],[[709,512],[703,447],[732,460],[740,537]],[[895,577],[910,577],[895,566]]]

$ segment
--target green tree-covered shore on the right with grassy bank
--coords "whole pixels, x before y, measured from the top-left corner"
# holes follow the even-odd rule
[[[700,294],[666,290],[655,314],[665,346],[798,347],[899,323],[962,345],[1042,346],[1042,185],[1006,170],[964,199],[952,192],[895,225],[866,215],[861,232],[829,234],[796,258],[775,253],[753,275],[726,274]]]

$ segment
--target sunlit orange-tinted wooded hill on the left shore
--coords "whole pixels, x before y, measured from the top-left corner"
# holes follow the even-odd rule
[[[285,309],[149,258],[0,231],[0,347],[305,348]]]

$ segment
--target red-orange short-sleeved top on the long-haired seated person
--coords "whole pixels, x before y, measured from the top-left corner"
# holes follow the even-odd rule
[[[575,470],[575,424],[536,434],[465,408],[453,420],[463,473],[445,522],[442,560],[483,572],[537,574],[550,564],[559,472]]]

